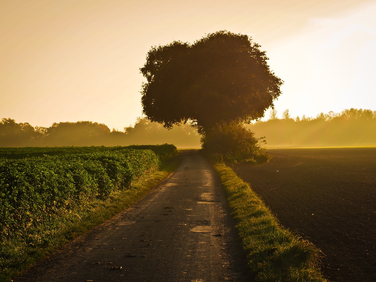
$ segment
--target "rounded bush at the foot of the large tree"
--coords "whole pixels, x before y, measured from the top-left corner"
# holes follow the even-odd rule
[[[202,138],[203,152],[217,162],[267,162],[264,144],[264,138],[256,138],[255,133],[237,122],[218,123]]]

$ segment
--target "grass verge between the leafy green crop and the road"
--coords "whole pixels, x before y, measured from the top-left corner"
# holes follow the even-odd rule
[[[131,188],[112,192],[105,200],[95,200],[56,218],[50,226],[39,224],[26,237],[18,236],[0,243],[0,281],[12,281],[38,259],[62,247],[68,241],[103,223],[142,199],[166,179],[180,164],[173,158],[159,171],[134,183]]]

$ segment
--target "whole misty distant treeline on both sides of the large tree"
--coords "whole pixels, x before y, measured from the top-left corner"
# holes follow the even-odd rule
[[[247,124],[256,137],[265,136],[266,148],[376,146],[376,111],[347,109],[317,117],[282,118]],[[0,147],[128,146],[132,144],[174,144],[178,148],[199,148],[200,138],[190,124],[166,129],[146,118],[138,118],[124,131],[110,130],[91,121],[60,122],[50,127],[17,123],[11,118],[0,122]]]

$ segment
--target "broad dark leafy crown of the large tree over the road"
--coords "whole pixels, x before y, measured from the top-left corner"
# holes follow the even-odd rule
[[[152,47],[141,73],[144,114],[171,128],[192,120],[201,133],[219,121],[250,122],[280,95],[282,80],[247,35],[211,33],[188,44]]]

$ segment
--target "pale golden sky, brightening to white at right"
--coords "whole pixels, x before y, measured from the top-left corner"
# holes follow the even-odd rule
[[[0,0],[0,118],[123,130],[142,115],[150,48],[218,30],[266,51],[279,117],[375,111],[374,15],[376,0]]]

